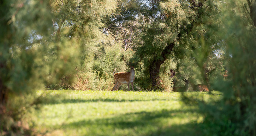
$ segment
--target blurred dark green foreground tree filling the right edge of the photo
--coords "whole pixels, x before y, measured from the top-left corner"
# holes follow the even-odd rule
[[[212,128],[207,129],[205,135],[256,135],[255,3],[239,0],[219,5],[221,11],[216,20],[220,22],[220,29],[213,31],[212,36],[221,37],[219,52],[223,51],[225,59],[220,59],[219,64],[228,70],[228,76],[224,79],[219,74],[221,70],[216,71],[210,85],[222,92],[223,97],[210,99],[210,103],[193,98],[187,101],[198,104],[205,116],[203,124]]]

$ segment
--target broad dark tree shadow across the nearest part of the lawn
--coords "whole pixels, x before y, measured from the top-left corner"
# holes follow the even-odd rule
[[[86,135],[200,135],[198,123],[194,123],[193,120],[183,120],[188,118],[187,115],[195,112],[196,110],[192,109],[134,112],[111,118],[63,123],[53,128],[75,131],[87,129]]]

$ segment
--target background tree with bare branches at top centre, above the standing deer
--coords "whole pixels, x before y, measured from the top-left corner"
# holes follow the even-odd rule
[[[141,25],[138,23],[138,8],[137,1],[118,1],[115,13],[102,20],[105,22],[102,27],[103,33],[110,34],[116,41],[122,42],[124,51],[136,46],[134,41]]]

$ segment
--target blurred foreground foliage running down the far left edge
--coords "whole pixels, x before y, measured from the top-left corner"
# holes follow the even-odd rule
[[[3,2],[3,3],[2,3]],[[35,89],[48,76],[44,60],[50,36],[47,1],[2,1],[0,33],[0,131],[29,135],[24,110],[36,104]],[[44,18],[45,21],[41,21]],[[38,44],[42,42],[42,44]]]

